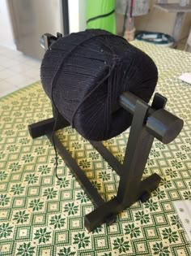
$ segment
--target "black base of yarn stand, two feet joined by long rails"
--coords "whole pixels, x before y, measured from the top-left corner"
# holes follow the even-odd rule
[[[104,202],[104,199],[100,197],[100,194],[97,192],[96,188],[87,179],[87,176],[85,176],[81,168],[79,168],[74,158],[71,157],[70,153],[62,145],[57,136],[54,134],[52,138],[53,124],[54,119],[51,118],[36,124],[31,124],[28,126],[28,129],[32,138],[47,135],[47,137],[49,137],[49,141],[52,143],[52,139],[54,138],[55,146],[60,156],[66,165],[70,167],[70,170],[74,173],[74,176],[79,181],[79,184],[81,184],[85,193],[87,193],[87,196],[91,199],[91,202],[96,207],[96,210],[91,211],[91,213],[87,214],[84,218],[85,227],[89,232],[95,228],[98,228],[103,223],[114,223],[116,220],[116,215],[122,210],[125,210],[126,207],[134,204],[134,202],[137,202],[138,200],[146,202],[146,200],[151,196],[151,192],[159,186],[161,178],[157,174],[153,174],[140,182],[137,191],[132,191],[133,196],[131,195],[131,199],[128,203],[124,204],[124,202],[121,202],[118,197],[114,197],[110,201]],[[69,125],[70,124],[66,121],[66,119],[62,119],[62,122],[58,123],[56,129],[65,128]],[[117,171],[117,174],[121,176],[121,173],[124,170],[121,163],[119,163],[117,159],[113,157],[113,155],[101,142],[90,141],[90,143],[96,148],[96,150],[100,152],[111,167]]]

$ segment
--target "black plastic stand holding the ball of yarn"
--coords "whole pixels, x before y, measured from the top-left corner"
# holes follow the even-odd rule
[[[142,180],[142,173],[146,166],[146,160],[151,150],[154,138],[158,138],[163,143],[173,141],[183,127],[183,121],[172,115],[163,108],[167,102],[166,98],[155,94],[152,106],[146,104],[132,93],[123,93],[119,99],[119,106],[123,107],[133,115],[133,121],[129,132],[129,140],[125,150],[124,163],[121,164],[101,142],[90,141],[96,150],[100,152],[109,165],[117,171],[121,177],[117,196],[108,202],[97,192],[96,188],[87,179],[87,176],[79,168],[74,158],[62,145],[56,134],[53,135],[56,148],[74,176],[83,187],[87,196],[96,207],[85,216],[85,227],[89,232],[99,227],[102,223],[111,224],[115,222],[116,215],[131,206],[134,202],[146,200],[151,196],[151,192],[159,186],[160,176],[153,174]],[[46,119],[36,124],[29,125],[29,132],[32,138],[47,135],[52,141],[54,118]],[[70,124],[62,117],[58,116],[56,130],[66,128]]]

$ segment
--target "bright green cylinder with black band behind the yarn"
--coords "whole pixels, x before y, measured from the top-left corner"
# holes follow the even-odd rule
[[[87,28],[101,28],[115,34],[115,0],[87,0]]]

